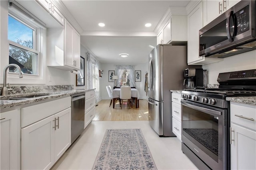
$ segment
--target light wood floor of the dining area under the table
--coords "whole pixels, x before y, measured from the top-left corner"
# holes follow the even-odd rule
[[[119,102],[109,107],[110,100],[101,100],[95,107],[95,117],[92,121],[148,121],[148,101],[140,100],[140,107],[135,104],[129,109],[127,101],[123,101],[122,109]]]

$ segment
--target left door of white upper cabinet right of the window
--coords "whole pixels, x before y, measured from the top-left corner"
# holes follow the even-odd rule
[[[64,65],[74,67],[73,60],[73,26],[65,19],[64,27]]]

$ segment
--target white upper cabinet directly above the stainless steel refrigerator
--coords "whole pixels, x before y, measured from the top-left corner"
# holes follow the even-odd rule
[[[187,41],[187,17],[186,14],[176,14],[181,7],[169,8],[162,20],[156,26],[157,44],[168,44],[175,41]],[[182,10],[180,10],[182,11]],[[185,9],[183,11],[186,11]]]

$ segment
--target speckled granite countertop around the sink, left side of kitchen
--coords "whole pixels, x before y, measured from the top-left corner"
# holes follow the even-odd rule
[[[92,91],[94,89],[89,90],[70,90],[70,91],[56,91],[56,92],[46,92],[46,93],[23,93],[23,94],[14,94],[8,96],[0,96],[0,109],[8,109],[16,106],[26,105],[30,103],[36,103],[40,101],[47,101],[49,99],[59,98],[59,97],[68,97],[70,95],[82,92]],[[20,99],[20,100],[5,100],[10,97],[22,97],[28,95],[44,95],[40,97],[33,97],[28,99]]]

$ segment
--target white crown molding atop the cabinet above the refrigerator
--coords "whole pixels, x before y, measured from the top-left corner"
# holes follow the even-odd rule
[[[168,20],[170,20],[170,17],[172,15],[187,15],[186,7],[169,6],[169,8],[164,13],[164,16],[162,16],[162,18],[158,22],[154,32],[158,33],[163,28],[164,24],[166,24],[166,22],[168,22]]]

